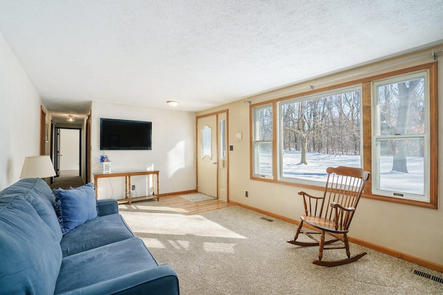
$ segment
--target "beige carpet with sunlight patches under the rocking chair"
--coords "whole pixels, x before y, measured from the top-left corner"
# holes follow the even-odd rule
[[[442,283],[413,274],[417,269],[441,277],[439,272],[355,244],[351,254],[368,252],[356,263],[314,265],[318,247],[286,242],[295,225],[241,207],[198,216],[152,201],[119,207],[156,260],[174,267],[184,295],[443,294]],[[325,251],[328,258],[345,258],[344,250]]]

